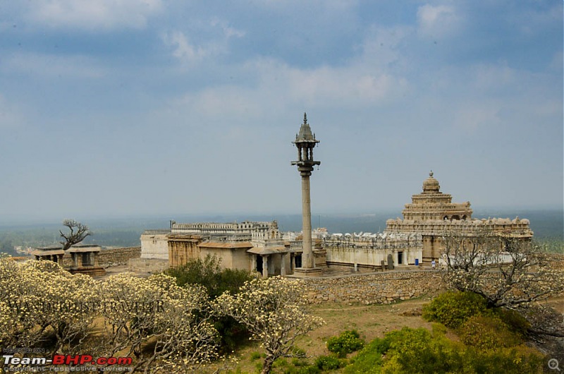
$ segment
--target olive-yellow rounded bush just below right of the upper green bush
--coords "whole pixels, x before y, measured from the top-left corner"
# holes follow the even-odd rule
[[[496,349],[517,346],[522,343],[518,334],[494,316],[474,315],[458,329],[460,341],[478,349]]]

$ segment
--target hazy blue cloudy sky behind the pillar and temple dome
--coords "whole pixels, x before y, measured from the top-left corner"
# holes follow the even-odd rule
[[[4,0],[0,220],[563,208],[563,2]]]

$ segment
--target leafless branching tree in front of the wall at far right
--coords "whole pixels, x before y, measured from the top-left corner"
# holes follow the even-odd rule
[[[442,239],[443,280],[484,296],[490,308],[523,308],[564,291],[564,273],[529,239],[486,231],[449,231]]]

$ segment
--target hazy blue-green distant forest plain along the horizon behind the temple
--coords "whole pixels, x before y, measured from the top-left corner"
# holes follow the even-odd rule
[[[561,252],[564,246],[564,210],[480,210],[474,218],[500,217],[513,219],[516,216],[531,222],[534,238],[547,244],[552,251]],[[400,212],[388,211],[365,214],[317,215],[312,212],[312,227],[324,227],[330,233],[371,232],[386,229],[386,219],[401,217]],[[61,217],[61,222],[64,218]],[[71,217],[72,218],[72,217]],[[130,217],[121,219],[82,219],[92,232],[85,244],[99,244],[104,247],[140,246],[140,235],[147,229],[168,229],[170,219],[176,222],[278,222],[281,231],[301,231],[301,215],[184,215],[177,217]],[[14,247],[54,246],[59,243],[61,222],[33,224],[0,224],[0,252],[11,253]],[[558,250],[560,248],[560,250]]]

